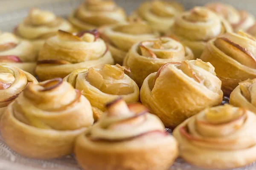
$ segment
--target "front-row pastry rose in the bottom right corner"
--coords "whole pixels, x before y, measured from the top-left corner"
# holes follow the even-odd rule
[[[207,169],[233,169],[256,161],[256,116],[244,108],[207,108],[173,132],[180,156]]]

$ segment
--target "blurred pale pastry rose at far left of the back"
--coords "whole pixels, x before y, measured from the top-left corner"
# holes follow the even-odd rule
[[[69,32],[75,31],[68,21],[57,17],[52,12],[33,8],[15,28],[14,32],[21,39],[31,41],[39,51],[45,40],[56,35],[59,29]]]

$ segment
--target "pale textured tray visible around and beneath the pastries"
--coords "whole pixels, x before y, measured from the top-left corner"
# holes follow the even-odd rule
[[[47,9],[53,11],[55,14],[66,17],[76,6],[78,6],[83,0],[68,0],[65,2],[47,4],[43,6],[33,6],[41,9]],[[131,13],[143,0],[116,0],[119,6],[123,6],[127,13]],[[210,0],[179,0],[185,5],[187,9],[193,6],[204,5],[210,2]],[[49,1],[50,2],[50,1]],[[245,8],[250,12],[256,11],[253,8],[253,4],[256,5],[255,0],[222,0],[224,3],[232,3],[237,8]],[[0,1],[0,3],[3,3]],[[10,11],[8,13],[0,14],[0,30],[11,32],[15,26],[27,15],[29,8],[23,8],[16,11]],[[224,97],[222,104],[228,103],[228,98]],[[166,129],[169,133],[172,130]],[[74,155],[66,156],[59,159],[51,160],[39,160],[29,159],[11,150],[7,144],[3,141],[0,135],[0,170],[81,170]],[[182,159],[178,158],[175,163],[170,167],[170,170],[202,170],[197,167],[193,167],[187,164]],[[256,170],[256,162],[248,165],[247,167],[236,168],[233,170]]]

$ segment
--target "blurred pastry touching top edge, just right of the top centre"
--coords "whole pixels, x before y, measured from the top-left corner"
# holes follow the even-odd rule
[[[142,3],[133,15],[141,17],[157,31],[165,32],[173,25],[175,16],[183,11],[183,6],[176,1],[152,0]]]

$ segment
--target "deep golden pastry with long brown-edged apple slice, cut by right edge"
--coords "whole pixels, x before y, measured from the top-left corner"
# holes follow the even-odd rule
[[[222,91],[229,96],[238,83],[256,78],[256,40],[244,32],[227,33],[210,40],[201,56],[210,62],[222,81]]]

